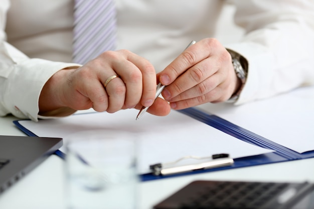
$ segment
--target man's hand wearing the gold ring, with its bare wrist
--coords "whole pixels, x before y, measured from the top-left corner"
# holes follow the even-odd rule
[[[113,75],[117,77],[104,87]],[[147,60],[127,50],[107,51],[80,68],[53,75],[40,95],[40,114],[62,107],[114,113],[142,106],[151,106],[148,112],[154,115],[169,114],[168,102],[154,102],[155,92],[156,74]]]

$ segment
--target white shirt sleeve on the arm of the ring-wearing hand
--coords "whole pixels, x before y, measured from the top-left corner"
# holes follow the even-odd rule
[[[0,116],[13,114],[37,121],[41,90],[57,71],[77,67],[74,63],[30,59],[6,42],[6,14],[10,1],[0,5]]]

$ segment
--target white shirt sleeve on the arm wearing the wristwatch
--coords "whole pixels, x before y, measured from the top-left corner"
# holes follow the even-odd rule
[[[314,1],[236,0],[235,23],[243,39],[226,48],[248,61],[248,75],[235,104],[314,85]]]

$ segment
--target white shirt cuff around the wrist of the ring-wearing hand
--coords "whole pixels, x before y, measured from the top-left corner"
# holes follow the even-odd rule
[[[7,78],[5,106],[16,117],[38,121],[39,96],[53,74],[64,68],[80,67],[75,63],[25,59],[16,65]]]

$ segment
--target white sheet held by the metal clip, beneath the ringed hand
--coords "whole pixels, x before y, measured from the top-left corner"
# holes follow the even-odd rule
[[[136,133],[141,174],[149,172],[150,164],[175,161],[187,155],[206,157],[229,153],[231,157],[239,158],[272,152],[243,142],[177,111],[172,111],[166,117],[145,113],[135,120],[137,113],[137,110],[129,109],[114,114],[75,114],[60,119],[40,120],[38,123],[25,120],[20,121],[20,124],[37,136],[61,137],[64,143],[73,134],[83,138],[93,131],[103,133],[105,137],[107,129]]]

